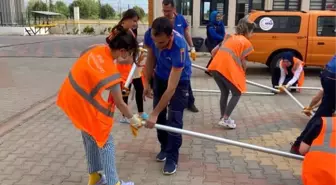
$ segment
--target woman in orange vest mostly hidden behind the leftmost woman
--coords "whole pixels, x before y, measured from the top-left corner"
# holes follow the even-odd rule
[[[109,37],[107,37],[107,42],[109,41],[109,38],[115,34],[114,32],[117,28],[129,30],[129,32],[131,32],[136,38],[139,19],[140,19],[139,15],[134,9],[128,9],[126,12],[123,13],[122,19],[119,21],[119,23],[114,28],[112,28],[111,34],[109,35]],[[122,80],[123,80],[121,83],[122,89],[123,89],[122,91],[123,99],[125,103],[127,104],[129,92],[131,89],[131,84],[129,85],[128,88],[124,88],[124,85],[132,69],[132,63],[135,59],[130,57],[126,60],[120,60],[120,59],[118,60],[119,60],[119,63],[117,65],[118,65],[118,69],[119,69],[119,72],[121,73]],[[142,70],[142,67],[138,66],[134,73],[135,76],[133,76],[132,84],[134,85],[134,89],[136,92],[135,100],[136,100],[136,104],[138,108],[138,114],[143,119],[147,119],[148,115],[144,112],[143,98],[142,98],[144,87],[143,87],[142,78],[141,78],[142,77],[141,70]],[[120,123],[129,123],[129,120],[123,115],[122,119],[120,120]]]

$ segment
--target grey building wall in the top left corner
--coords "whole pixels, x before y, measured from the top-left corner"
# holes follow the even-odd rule
[[[24,0],[0,0],[0,25],[24,24]]]

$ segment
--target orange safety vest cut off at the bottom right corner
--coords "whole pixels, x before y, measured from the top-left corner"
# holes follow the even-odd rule
[[[322,130],[302,163],[304,185],[336,184],[336,118],[322,120]]]

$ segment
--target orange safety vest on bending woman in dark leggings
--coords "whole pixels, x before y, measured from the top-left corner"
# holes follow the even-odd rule
[[[218,71],[241,93],[244,93],[246,92],[246,77],[242,60],[253,51],[253,46],[246,37],[226,34],[208,70]]]

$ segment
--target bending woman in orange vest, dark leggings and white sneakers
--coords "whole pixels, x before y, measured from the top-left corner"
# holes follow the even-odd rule
[[[236,34],[226,34],[222,43],[211,52],[213,60],[208,70],[221,91],[221,117],[218,124],[227,128],[236,128],[230,115],[241,94],[246,91],[246,57],[254,51],[248,39],[252,36],[254,28],[255,23],[250,22],[247,17],[239,20]],[[232,98],[228,103],[230,92]]]

